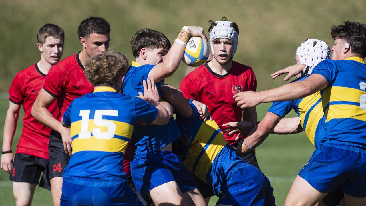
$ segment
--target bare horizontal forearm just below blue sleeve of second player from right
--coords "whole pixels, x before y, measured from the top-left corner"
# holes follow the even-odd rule
[[[300,125],[300,120],[301,119],[298,117],[281,119],[280,122],[276,125],[275,129],[273,129],[272,134],[288,135],[300,133],[303,131]]]

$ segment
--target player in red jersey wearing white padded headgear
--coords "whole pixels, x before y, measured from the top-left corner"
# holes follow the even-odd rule
[[[256,91],[257,80],[251,67],[232,60],[238,47],[238,25],[228,21],[226,17],[221,21],[210,20],[209,22],[211,23],[209,32],[213,58],[183,78],[179,89],[184,97],[206,104],[212,119],[224,131],[225,128],[222,125],[229,119],[241,121],[243,118],[244,121],[257,121],[255,107],[242,110],[236,106],[233,98],[233,95],[238,92]],[[238,133],[232,135],[224,133],[224,135],[231,146],[238,145],[238,141],[235,141]],[[254,152],[243,158],[247,163],[259,168]],[[196,180],[200,191],[212,191],[201,188],[200,180],[198,178]],[[205,198],[213,196],[213,194],[204,193],[202,195]]]

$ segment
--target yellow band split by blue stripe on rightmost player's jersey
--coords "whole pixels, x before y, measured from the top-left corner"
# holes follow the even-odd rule
[[[323,109],[325,109],[326,122],[340,118],[353,118],[365,121],[366,111],[359,106],[360,96],[365,94],[365,91],[348,87],[328,87],[324,89],[322,104]],[[329,107],[326,108],[327,106]]]

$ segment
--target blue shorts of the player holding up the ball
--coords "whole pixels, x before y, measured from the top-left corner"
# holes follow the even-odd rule
[[[182,193],[196,188],[191,172],[172,151],[136,155],[131,162],[131,176],[143,198],[154,187],[175,181]]]

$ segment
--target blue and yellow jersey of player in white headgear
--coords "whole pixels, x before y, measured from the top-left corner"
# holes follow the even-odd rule
[[[307,76],[297,78],[294,81],[302,81],[305,80],[305,78],[307,78]],[[284,117],[291,109],[294,109],[301,119],[300,125],[304,129],[307,138],[315,148],[318,148],[325,134],[325,117],[320,99],[320,92],[294,101],[273,102],[268,111]]]

